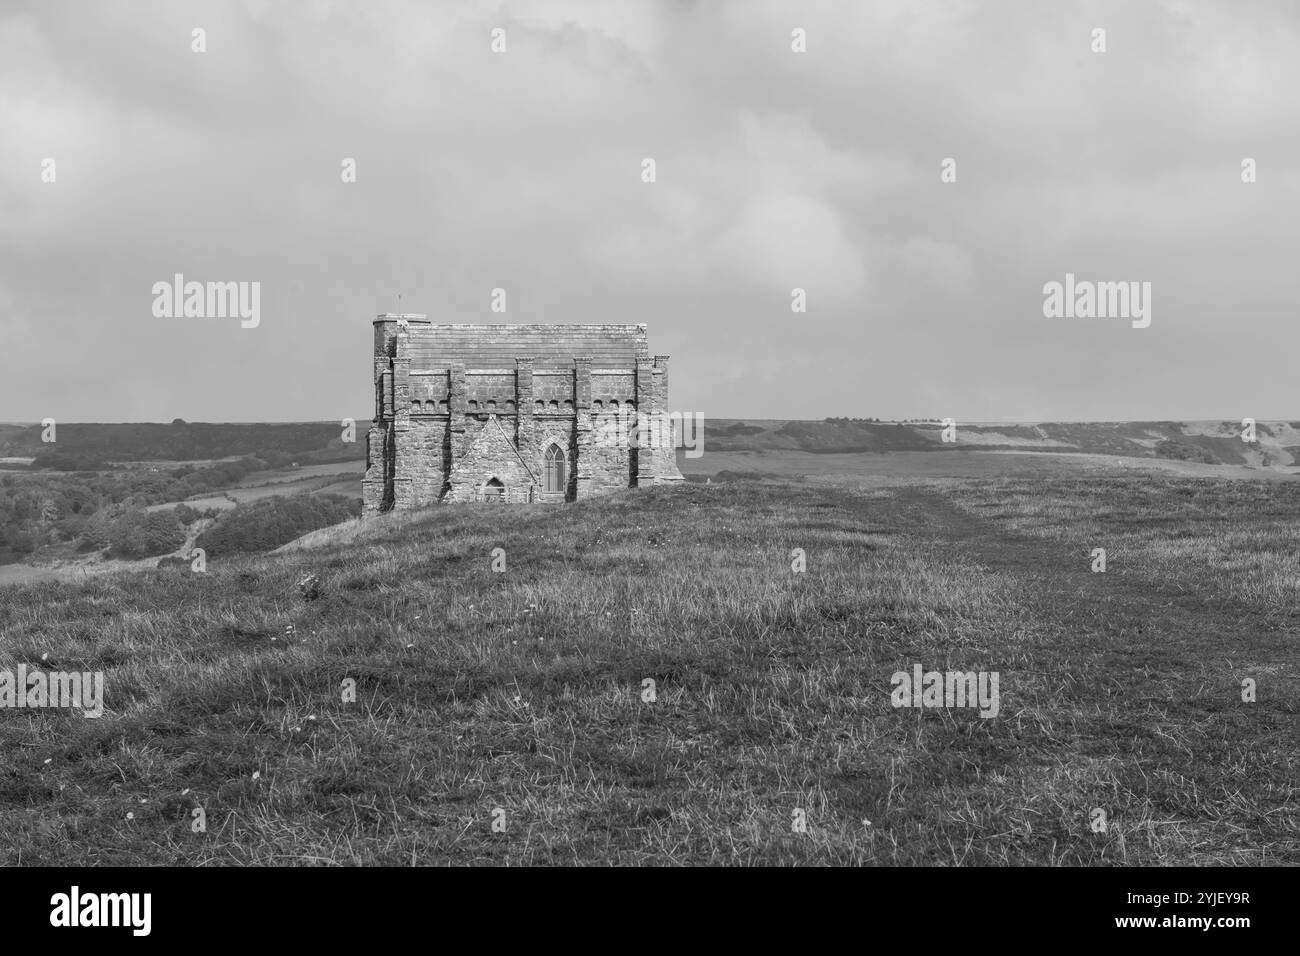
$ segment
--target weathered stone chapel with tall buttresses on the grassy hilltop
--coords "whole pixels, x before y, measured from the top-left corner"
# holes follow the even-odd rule
[[[563,502],[681,481],[671,445],[602,440],[667,412],[668,356],[645,325],[374,320],[364,514],[439,501]],[[634,428],[633,428],[634,431]]]

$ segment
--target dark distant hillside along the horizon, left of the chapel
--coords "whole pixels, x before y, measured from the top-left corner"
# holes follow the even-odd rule
[[[58,451],[96,462],[192,462],[260,457],[263,453],[300,455],[304,460],[343,460],[365,455],[369,419],[358,419],[356,441],[341,441],[337,421],[274,424],[127,423],[57,425],[57,442],[40,441],[40,425],[0,425],[0,458],[35,458]]]

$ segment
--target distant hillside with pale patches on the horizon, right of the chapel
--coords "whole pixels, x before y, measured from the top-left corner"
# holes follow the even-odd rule
[[[957,423],[957,441],[941,441],[937,421],[823,419],[708,419],[712,451],[1078,451],[1127,458],[1170,458],[1206,464],[1288,467],[1300,460],[1300,423],[1260,421],[1254,444],[1242,441],[1240,421],[1044,421]]]

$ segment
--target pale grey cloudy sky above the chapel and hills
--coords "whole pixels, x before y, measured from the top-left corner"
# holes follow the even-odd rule
[[[645,323],[706,418],[1300,419],[1297,95],[1284,1],[0,0],[0,421],[368,419],[381,312]]]

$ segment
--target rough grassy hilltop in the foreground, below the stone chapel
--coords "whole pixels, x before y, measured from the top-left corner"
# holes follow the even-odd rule
[[[715,484],[4,589],[0,667],[101,669],[109,713],[0,711],[0,862],[1300,862],[1297,516]],[[1000,717],[894,710],[914,662],[998,670]]]

